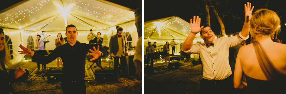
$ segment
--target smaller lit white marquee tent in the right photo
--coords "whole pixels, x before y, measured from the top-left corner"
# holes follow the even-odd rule
[[[181,51],[182,43],[185,41],[188,34],[190,34],[190,31],[190,23],[178,16],[144,22],[144,48],[148,46],[148,42],[151,42],[151,44],[157,42],[157,48],[161,49],[166,41],[169,41],[170,43],[172,39],[175,39],[176,43],[179,43],[176,45],[175,55],[180,55],[179,52]],[[200,38],[199,33],[196,35],[193,44],[197,41],[203,41],[203,39]],[[170,49],[169,53],[171,54],[172,48],[170,47]],[[144,54],[146,53],[144,52]]]

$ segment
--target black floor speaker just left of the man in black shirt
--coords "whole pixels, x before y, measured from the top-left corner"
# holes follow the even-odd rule
[[[61,81],[63,79],[63,70],[46,70],[49,81]]]

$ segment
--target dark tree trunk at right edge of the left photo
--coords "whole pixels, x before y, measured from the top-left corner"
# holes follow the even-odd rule
[[[138,38],[142,36],[142,0],[138,0],[135,11],[135,25],[138,32]]]

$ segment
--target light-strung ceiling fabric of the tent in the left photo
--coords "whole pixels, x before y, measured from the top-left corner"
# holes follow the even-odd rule
[[[2,12],[0,26],[37,32],[65,31],[66,25],[74,24],[78,30],[104,30],[135,20],[134,11],[130,11],[132,9],[122,9],[114,6],[114,3],[106,2],[102,0],[29,0]]]

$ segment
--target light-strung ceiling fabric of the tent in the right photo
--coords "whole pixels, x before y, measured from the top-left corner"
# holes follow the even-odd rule
[[[186,39],[190,23],[178,16],[152,20],[144,23],[144,39]],[[200,37],[199,34],[196,37]]]

